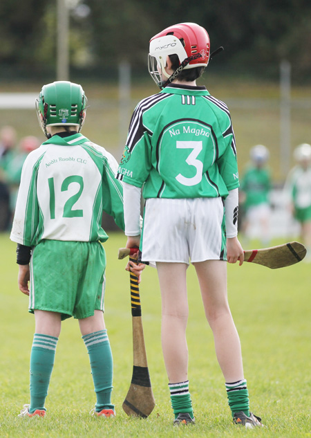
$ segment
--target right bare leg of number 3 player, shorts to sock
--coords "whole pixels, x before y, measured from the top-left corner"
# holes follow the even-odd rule
[[[227,300],[227,265],[220,260],[194,263],[205,315],[214,334],[216,356],[226,382],[242,380],[243,363],[238,332]]]

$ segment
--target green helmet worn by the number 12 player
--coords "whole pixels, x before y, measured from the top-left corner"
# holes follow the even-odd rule
[[[44,85],[36,100],[42,131],[47,126],[77,126],[81,130],[86,111],[86,95],[81,85],[57,81]]]

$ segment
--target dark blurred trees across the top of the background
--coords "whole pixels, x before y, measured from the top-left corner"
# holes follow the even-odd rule
[[[67,0],[70,68],[102,77],[127,61],[147,65],[149,39],[182,21],[204,26],[220,73],[274,77],[281,60],[294,65],[294,79],[310,80],[310,0]],[[41,77],[55,73],[56,0],[1,0],[0,75]],[[1,77],[1,76],[0,76]]]

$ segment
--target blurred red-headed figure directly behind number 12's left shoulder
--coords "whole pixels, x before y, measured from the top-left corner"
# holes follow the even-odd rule
[[[6,161],[4,175],[10,190],[10,211],[13,213],[21,181],[21,169],[29,152],[37,149],[41,143],[35,136],[26,136],[21,138],[18,149],[10,154],[10,159]]]

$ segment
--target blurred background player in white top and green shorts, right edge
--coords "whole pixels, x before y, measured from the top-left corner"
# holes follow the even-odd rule
[[[285,196],[290,212],[301,227],[301,240],[311,259],[311,146],[303,143],[294,149],[296,166],[285,182]]]

